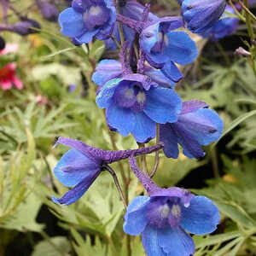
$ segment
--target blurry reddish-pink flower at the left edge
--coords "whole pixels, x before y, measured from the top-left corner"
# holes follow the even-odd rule
[[[23,84],[16,77],[16,63],[11,62],[0,69],[0,85],[3,90],[9,90],[13,85],[17,89],[22,89]]]

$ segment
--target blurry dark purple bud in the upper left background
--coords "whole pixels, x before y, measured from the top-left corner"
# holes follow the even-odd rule
[[[40,29],[41,26],[37,20],[22,20],[15,25],[11,26],[10,31],[20,34],[20,36],[26,36],[29,34],[37,33],[38,31],[34,28]]]

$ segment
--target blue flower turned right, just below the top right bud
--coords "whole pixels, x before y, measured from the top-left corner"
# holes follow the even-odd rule
[[[148,63],[173,82],[183,78],[175,63],[189,64],[198,55],[195,42],[186,32],[173,31],[180,26],[183,21],[179,17],[162,18],[145,26],[139,38]]]

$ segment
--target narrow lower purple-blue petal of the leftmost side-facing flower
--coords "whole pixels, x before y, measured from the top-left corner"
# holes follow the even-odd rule
[[[96,177],[98,177],[99,173],[100,172],[94,172],[89,176],[85,177],[84,180],[82,180],[75,187],[73,187],[73,189],[67,191],[67,193],[61,198],[55,198],[55,196],[52,196],[52,201],[54,201],[56,204],[61,204],[65,206],[68,206],[75,201],[78,201],[79,198],[87,191],[87,189],[90,188],[90,185],[96,180]]]

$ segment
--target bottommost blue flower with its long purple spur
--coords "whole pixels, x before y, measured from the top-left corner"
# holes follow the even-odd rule
[[[148,256],[194,254],[195,244],[187,232],[205,235],[216,230],[220,220],[218,207],[207,197],[192,195],[186,189],[160,189],[138,169],[133,157],[129,161],[149,196],[137,196],[127,207],[125,233],[142,234]]]

